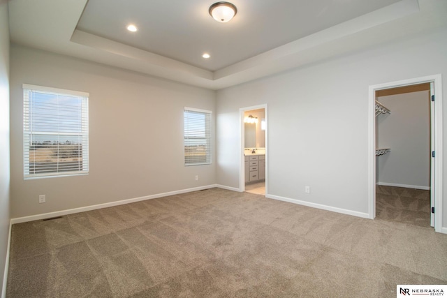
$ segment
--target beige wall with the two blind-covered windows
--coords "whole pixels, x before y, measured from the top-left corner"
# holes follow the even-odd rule
[[[12,218],[216,183],[215,150],[212,165],[184,167],[183,157],[185,106],[213,111],[214,148],[214,91],[18,45],[10,68]],[[89,92],[89,175],[23,179],[24,83]]]

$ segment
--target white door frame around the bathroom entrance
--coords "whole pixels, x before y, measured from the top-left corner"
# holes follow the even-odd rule
[[[246,111],[264,109],[265,112],[265,195],[268,194],[268,110],[267,103],[263,105],[253,105],[251,107],[241,107],[239,109],[239,149],[240,149],[240,168],[239,168],[239,191],[245,191],[245,126],[244,126],[244,113]]]

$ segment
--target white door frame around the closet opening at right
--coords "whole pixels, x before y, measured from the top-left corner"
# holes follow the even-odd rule
[[[434,177],[430,174],[430,185],[434,183],[434,231],[442,232],[442,167],[443,167],[443,149],[442,149],[442,80],[441,74],[429,75],[426,77],[416,77],[408,80],[401,80],[396,82],[387,82],[383,84],[376,84],[369,86],[369,124],[368,124],[368,205],[369,218],[374,219],[376,217],[376,114],[375,114],[375,100],[376,91],[383,89],[391,89],[395,87],[404,87],[414,84],[430,83],[434,84],[434,114],[430,115],[432,125],[434,125],[434,134],[430,137],[434,137]]]

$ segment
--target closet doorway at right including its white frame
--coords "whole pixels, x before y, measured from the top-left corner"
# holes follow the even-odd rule
[[[374,99],[372,218],[441,232],[440,76],[370,87]]]

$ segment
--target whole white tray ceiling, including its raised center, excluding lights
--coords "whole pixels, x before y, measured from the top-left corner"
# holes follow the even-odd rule
[[[10,0],[10,38],[221,89],[447,24],[445,0],[234,0],[228,23],[208,14],[214,2]]]

